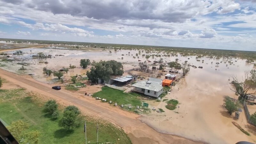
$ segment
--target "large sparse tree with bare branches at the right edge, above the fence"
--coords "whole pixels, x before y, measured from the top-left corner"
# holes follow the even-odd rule
[[[241,81],[238,80],[237,76],[232,76],[231,84],[234,85],[234,88],[229,87],[229,89],[236,92],[240,98],[245,98],[249,94],[256,94],[256,90],[252,90],[256,87],[256,70],[245,70]]]

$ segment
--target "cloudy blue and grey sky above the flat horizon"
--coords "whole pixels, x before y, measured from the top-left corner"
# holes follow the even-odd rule
[[[256,0],[0,0],[0,38],[256,51]]]

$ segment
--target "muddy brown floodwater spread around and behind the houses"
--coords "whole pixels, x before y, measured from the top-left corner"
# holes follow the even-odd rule
[[[69,64],[78,67],[74,72],[68,72],[68,74],[65,74],[65,76],[68,77],[75,74],[86,73],[88,69],[83,70],[79,68],[80,59],[90,59],[91,61],[117,60],[124,63],[124,69],[126,70],[134,68],[133,65],[138,65],[140,62],[138,60],[144,62],[146,58],[142,57],[142,54],[147,55],[158,53],[141,52],[141,54],[138,55],[139,58],[136,56],[134,59],[133,56],[135,56],[136,53],[139,53],[138,50],[119,50],[118,52],[110,50],[112,51],[110,53],[109,50],[103,51],[102,49],[99,49],[97,52],[89,52],[67,50],[65,48],[27,48],[22,51],[25,52],[23,56],[14,57],[19,59],[22,58],[21,60],[24,60],[24,62],[31,63],[32,65],[27,66],[28,68],[31,68],[31,70],[26,70],[24,73],[34,73],[36,74],[35,77],[40,81],[48,81],[51,79],[51,77],[47,77],[48,79],[45,78],[42,74],[42,69],[43,67],[46,67],[46,65],[47,68],[51,69],[68,67]],[[31,56],[35,55],[37,52],[51,54],[53,57],[51,59],[47,59],[49,62],[48,64],[38,64],[39,61],[37,59],[31,58]],[[128,55],[128,52],[130,52],[130,55]],[[55,56],[56,54],[64,56]],[[124,56],[122,56],[122,54],[124,54]],[[163,52],[159,52],[159,54],[163,55]],[[153,60],[159,60],[160,58],[163,58],[164,62],[179,59],[178,62],[182,63],[187,60],[188,64],[195,65],[197,67],[202,66],[203,68],[191,67],[188,75],[185,78],[182,78],[181,81],[173,87],[172,92],[164,97],[164,99],[179,100],[179,113],[177,113],[177,109],[166,109],[166,102],[158,102],[149,105],[149,108],[162,108],[165,112],[157,113],[152,111],[149,115],[142,115],[139,117],[142,122],[151,126],[158,132],[174,134],[193,140],[202,140],[209,143],[234,144],[238,141],[255,142],[256,132],[252,130],[252,126],[247,123],[244,112],[241,113],[239,120],[236,120],[234,119],[234,114],[232,116],[228,115],[227,110],[222,107],[223,96],[228,95],[237,99],[235,93],[229,90],[230,81],[228,81],[228,79],[233,75],[237,75],[238,77],[242,76],[244,70],[255,69],[253,64],[248,64],[245,60],[241,60],[239,58],[213,59],[203,57],[198,58],[200,61],[197,61],[196,56],[180,55],[178,57],[150,57],[148,60],[153,62]],[[230,61],[231,64],[228,61]],[[220,64],[217,65],[217,62]],[[147,64],[151,63],[147,62]],[[17,71],[19,67],[20,65],[15,64],[15,62],[11,62],[9,66],[2,68],[15,73],[20,73]],[[169,71],[170,68],[166,68],[166,70]],[[251,136],[247,136],[237,129],[231,123],[232,121],[235,121],[246,131],[250,132]],[[130,137],[132,137],[132,135],[130,135]]]

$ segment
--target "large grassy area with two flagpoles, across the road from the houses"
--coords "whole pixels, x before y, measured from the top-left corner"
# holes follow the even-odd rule
[[[13,121],[23,120],[29,124],[28,131],[40,132],[39,143],[85,143],[84,122],[78,128],[67,131],[59,126],[60,117],[52,120],[43,112],[44,102],[24,89],[0,90],[0,118],[8,125]],[[96,125],[92,118],[85,118],[87,123],[87,141],[97,142]],[[118,140],[120,139],[120,140]],[[108,122],[99,123],[99,142],[131,143],[122,129]]]

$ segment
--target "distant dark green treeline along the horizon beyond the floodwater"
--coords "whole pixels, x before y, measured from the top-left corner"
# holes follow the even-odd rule
[[[0,41],[10,42],[14,44],[59,44],[59,45],[79,45],[90,46],[103,49],[126,49],[126,50],[144,50],[144,51],[165,51],[167,54],[180,53],[183,56],[214,56],[214,57],[240,57],[242,59],[256,60],[256,52],[251,51],[235,51],[235,50],[219,50],[219,49],[203,49],[203,48],[186,48],[186,47],[167,47],[167,46],[150,46],[150,45],[130,45],[130,44],[104,44],[104,43],[85,43],[85,42],[67,42],[67,41],[46,41],[46,40],[26,40],[26,39],[8,39],[0,38]]]

